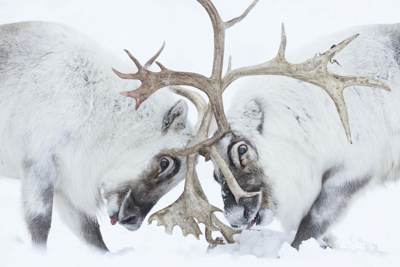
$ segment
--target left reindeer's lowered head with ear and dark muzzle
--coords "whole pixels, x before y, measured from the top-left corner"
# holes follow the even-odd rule
[[[160,150],[183,149],[193,138],[188,106],[179,100],[164,112],[154,132],[119,155],[104,175],[102,193],[112,225],[118,221],[130,231],[138,229],[150,209],[186,175],[187,157]]]

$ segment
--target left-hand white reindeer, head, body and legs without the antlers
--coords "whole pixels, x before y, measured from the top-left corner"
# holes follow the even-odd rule
[[[111,224],[134,231],[186,174],[187,157],[160,153],[192,139],[186,102],[166,90],[135,110],[118,92],[137,84],[112,72],[113,57],[61,24],[0,26],[0,175],[21,180],[36,248],[46,248],[53,201],[76,235],[108,251],[96,219],[104,199]]]

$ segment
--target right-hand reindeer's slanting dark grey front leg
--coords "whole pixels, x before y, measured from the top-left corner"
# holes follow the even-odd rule
[[[291,246],[299,249],[302,241],[311,237],[318,239],[324,235],[328,227],[346,209],[351,197],[364,188],[370,179],[370,175],[365,175],[349,180],[337,169],[326,171],[322,177],[320,194],[312,204],[310,211],[300,222]],[[343,182],[340,183],[340,181]]]

